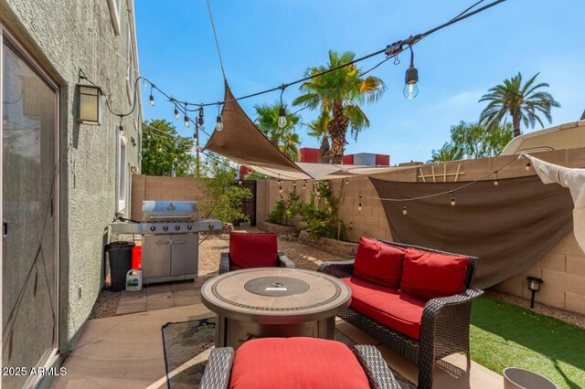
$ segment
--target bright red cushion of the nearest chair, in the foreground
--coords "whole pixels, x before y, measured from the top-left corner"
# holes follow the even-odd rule
[[[242,344],[231,368],[232,389],[369,388],[354,353],[341,342],[262,338]]]

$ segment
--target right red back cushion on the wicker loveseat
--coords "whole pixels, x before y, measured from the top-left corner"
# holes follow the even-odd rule
[[[407,248],[400,290],[420,300],[452,296],[465,289],[467,258]]]

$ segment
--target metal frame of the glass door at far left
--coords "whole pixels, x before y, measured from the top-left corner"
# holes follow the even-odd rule
[[[27,62],[27,65],[31,68],[31,70],[33,70],[34,72],[37,73],[37,76],[42,79],[43,81],[45,81],[48,86],[52,89],[54,89],[55,91],[55,198],[54,198],[54,210],[55,210],[55,253],[54,253],[54,260],[55,260],[55,284],[54,284],[54,290],[55,290],[55,300],[53,301],[55,303],[55,331],[54,331],[54,336],[53,336],[53,348],[49,349],[48,352],[46,352],[45,354],[43,354],[39,360],[39,362],[44,363],[43,367],[51,367],[54,363],[56,363],[58,361],[59,358],[59,342],[60,342],[60,331],[59,331],[59,327],[60,327],[60,304],[59,304],[59,300],[60,300],[60,288],[59,288],[59,279],[60,279],[60,261],[59,261],[59,238],[60,238],[60,234],[59,234],[59,228],[60,228],[60,209],[59,209],[59,205],[60,205],[60,191],[59,191],[59,185],[60,185],[60,145],[59,145],[59,141],[60,141],[60,115],[59,115],[59,107],[60,107],[60,89],[59,86],[57,84],[57,82],[55,82],[49,75],[48,73],[38,64],[38,62],[35,60],[35,58],[33,58],[26,47],[24,47],[19,40],[12,34],[10,33],[10,31],[8,31],[6,29],[6,26],[4,23],[2,23],[2,21],[0,21],[0,102],[4,100],[4,85],[3,85],[3,81],[4,81],[4,43],[5,43],[5,39],[11,44],[11,46],[16,48],[16,51],[19,56],[21,56],[21,58]],[[0,115],[4,116],[4,107],[2,104],[0,104]],[[4,123],[0,122],[0,152],[4,152],[4,144],[3,144],[3,138],[4,138]],[[0,158],[0,205],[3,205],[4,203],[4,199],[2,197],[3,195],[3,172],[4,172],[4,166],[3,166],[3,158]],[[0,219],[2,219],[2,208],[3,206],[0,206]],[[3,268],[4,268],[4,262],[3,262],[3,251],[4,251],[4,247],[3,247],[3,240],[4,239],[0,239],[0,298],[4,293],[4,289],[3,289]],[[3,317],[2,317],[2,310],[0,309],[0,323],[3,322]],[[0,350],[2,350],[3,344],[2,344],[2,340],[4,339],[4,333],[0,333]],[[0,352],[0,368],[4,366],[4,361],[2,360],[2,352]],[[36,386],[41,380],[43,379],[42,374],[34,376],[34,375],[30,375],[28,380],[26,381],[26,386]],[[1,382],[0,382],[0,386],[1,386]]]

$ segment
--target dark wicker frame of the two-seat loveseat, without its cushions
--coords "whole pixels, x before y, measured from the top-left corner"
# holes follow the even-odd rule
[[[400,248],[413,247],[419,250],[456,255],[425,247],[416,247],[394,242],[381,242]],[[351,307],[338,313],[362,331],[386,344],[419,368],[419,389],[431,389],[434,363],[455,352],[465,352],[467,371],[471,365],[469,351],[469,326],[471,321],[472,300],[484,294],[473,289],[473,277],[478,258],[468,257],[465,290],[457,295],[431,299],[424,306],[420,325],[420,340],[412,339],[398,331],[374,321]],[[353,277],[354,261],[324,262],[317,271],[337,278]]]

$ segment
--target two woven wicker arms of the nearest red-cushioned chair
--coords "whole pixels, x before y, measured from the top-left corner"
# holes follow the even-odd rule
[[[356,345],[352,347],[357,361],[361,364],[370,388],[400,389],[399,383],[374,346]],[[205,372],[201,377],[200,389],[224,389],[229,386],[231,366],[234,362],[234,349],[220,347],[209,353]]]

